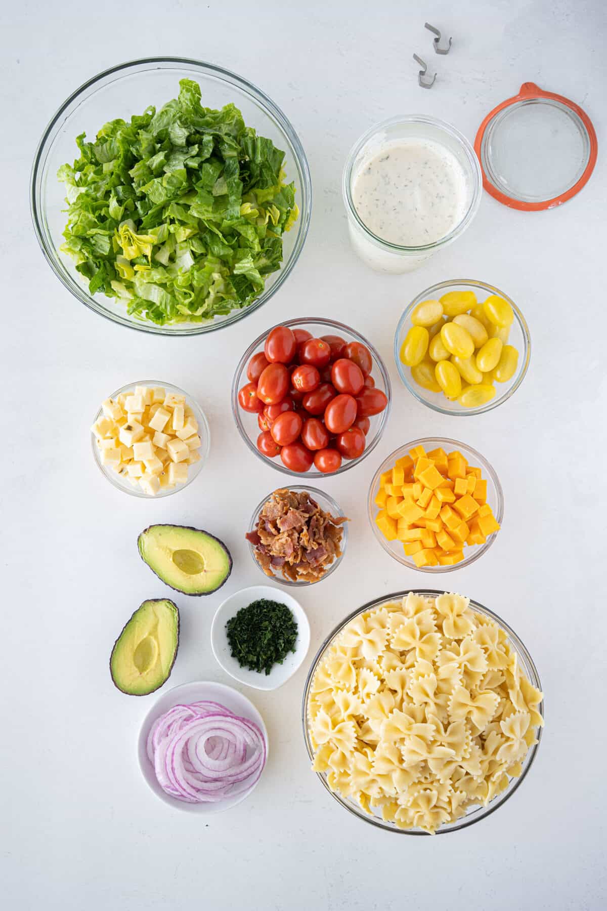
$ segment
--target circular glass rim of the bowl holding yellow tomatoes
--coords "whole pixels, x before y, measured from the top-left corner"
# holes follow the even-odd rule
[[[490,294],[497,294],[498,297],[502,297],[504,301],[508,301],[511,305],[512,311],[514,312],[514,319],[519,323],[521,329],[521,335],[523,340],[523,358],[521,366],[518,368],[517,376],[513,384],[509,386],[501,395],[496,395],[491,399],[491,402],[481,405],[480,408],[467,408],[465,411],[450,411],[449,408],[443,408],[440,404],[435,404],[429,402],[424,396],[420,393],[417,388],[417,384],[414,384],[410,377],[407,375],[406,371],[410,370],[410,367],[406,367],[404,363],[400,363],[400,333],[402,332],[403,326],[410,318],[410,314],[413,311],[414,307],[418,305],[421,301],[430,300],[434,297],[437,292],[445,292],[446,289],[450,288],[451,285],[467,285],[470,288],[482,289],[482,291],[489,292]],[[396,363],[396,369],[399,372],[400,379],[403,384],[409,389],[410,394],[415,396],[418,402],[421,404],[427,405],[432,411],[438,411],[440,415],[450,415],[450,417],[470,417],[471,415],[484,415],[486,412],[491,411],[493,408],[497,408],[499,404],[507,402],[508,399],[513,395],[522,381],[525,378],[527,369],[529,367],[529,362],[531,360],[531,333],[529,332],[529,326],[525,317],[522,315],[521,309],[517,304],[512,301],[511,297],[508,294],[500,291],[499,288],[496,288],[494,285],[488,284],[486,281],[478,281],[476,279],[449,279],[448,281],[439,281],[438,284],[431,285],[430,288],[426,288],[425,291],[420,292],[413,301],[410,302],[409,306],[405,308],[400,316],[399,323],[396,327],[396,332],[394,333],[394,361]]]

